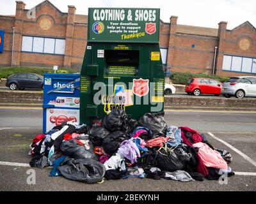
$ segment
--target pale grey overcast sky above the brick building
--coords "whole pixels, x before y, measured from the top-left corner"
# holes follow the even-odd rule
[[[30,9],[43,0],[23,0]],[[169,22],[177,15],[178,24],[218,28],[221,21],[228,29],[248,20],[256,27],[256,0],[50,0],[58,9],[67,12],[67,5],[75,5],[77,14],[88,14],[88,7],[160,8],[161,20]],[[0,0],[0,15],[14,15],[15,0]]]

